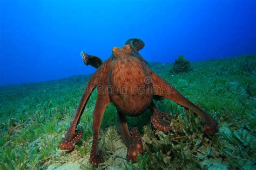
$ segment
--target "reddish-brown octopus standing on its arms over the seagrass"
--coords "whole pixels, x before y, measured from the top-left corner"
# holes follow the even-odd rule
[[[93,111],[93,138],[90,163],[98,166],[103,161],[103,151],[98,149],[98,137],[104,111],[111,102],[117,109],[121,138],[127,147],[126,159],[136,162],[138,154],[143,154],[143,143],[138,128],[129,129],[127,116],[136,117],[146,109],[152,111],[151,124],[156,130],[170,132],[171,117],[167,112],[159,111],[154,100],[167,98],[197,114],[204,125],[204,133],[213,135],[218,131],[217,121],[206,111],[197,107],[181,95],[170,83],[155,74],[149,64],[138,53],[144,42],[137,38],[129,39],[123,47],[113,47],[112,55],[105,62],[94,55],[82,52],[86,65],[97,68],[84,90],[78,109],[73,115],[70,127],[60,143],[60,149],[72,150],[82,138],[82,130],[77,129],[80,117],[90,95],[97,89],[97,100]]]

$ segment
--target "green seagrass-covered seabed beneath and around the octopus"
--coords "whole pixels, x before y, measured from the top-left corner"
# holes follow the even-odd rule
[[[256,96],[247,92],[256,87],[255,68],[250,67],[255,61],[256,55],[243,55],[191,62],[193,72],[173,75],[169,73],[171,63],[150,62],[154,73],[217,119],[219,131],[208,136],[192,110],[166,98],[154,101],[159,110],[170,113],[171,131],[152,129],[150,110],[127,117],[129,126],[138,126],[144,147],[136,163],[127,162],[116,108],[109,104],[99,132],[104,161],[98,169],[255,169]],[[91,113],[96,91],[84,108],[88,114],[80,117],[78,129],[86,133],[72,152],[59,148],[89,79],[87,75],[72,76],[0,87],[0,169],[92,169]]]

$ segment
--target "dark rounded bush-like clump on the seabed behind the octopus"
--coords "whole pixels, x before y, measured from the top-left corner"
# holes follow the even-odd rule
[[[193,70],[190,61],[184,58],[184,55],[178,56],[174,61],[170,73],[187,73]]]

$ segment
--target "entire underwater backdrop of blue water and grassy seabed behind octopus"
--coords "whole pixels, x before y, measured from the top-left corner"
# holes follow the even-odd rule
[[[219,131],[207,136],[192,111],[155,101],[172,131],[153,130],[149,110],[129,118],[145,151],[132,164],[110,104],[98,169],[256,168],[256,1],[3,0],[0,12],[0,169],[92,169],[96,91],[80,120],[82,139],[72,152],[59,149],[96,70],[80,52],[106,60],[129,38],[145,42],[139,53],[153,72],[213,116]],[[184,73],[177,58],[190,61]]]

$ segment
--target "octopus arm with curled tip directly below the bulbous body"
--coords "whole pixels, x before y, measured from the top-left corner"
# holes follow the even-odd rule
[[[143,143],[142,138],[140,138],[138,128],[133,126],[129,132],[126,116],[118,112],[118,121],[121,132],[121,137],[127,147],[127,160],[135,162],[138,157],[138,153],[143,154]]]

